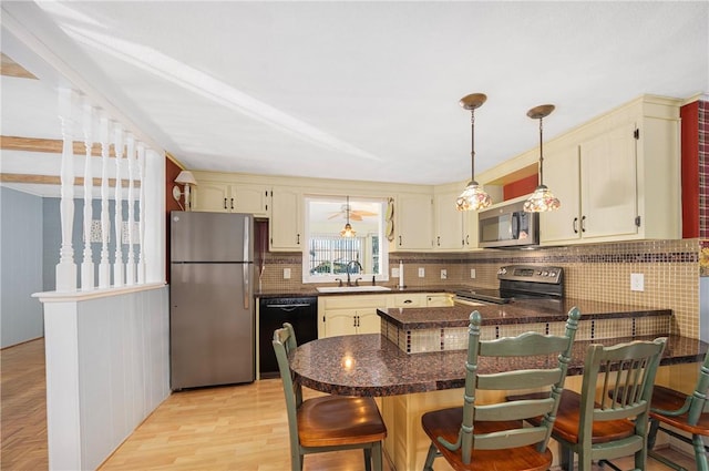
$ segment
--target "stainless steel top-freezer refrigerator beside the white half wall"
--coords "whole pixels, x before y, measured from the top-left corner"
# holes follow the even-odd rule
[[[254,381],[254,216],[171,213],[171,388]]]

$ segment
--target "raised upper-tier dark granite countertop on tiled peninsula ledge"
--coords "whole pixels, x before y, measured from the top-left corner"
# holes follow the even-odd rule
[[[483,325],[566,321],[568,311],[577,307],[582,320],[613,317],[671,316],[671,309],[646,308],[585,299],[521,299],[502,305],[450,307],[379,308],[377,313],[403,330],[439,327],[467,327],[470,314],[477,310]]]

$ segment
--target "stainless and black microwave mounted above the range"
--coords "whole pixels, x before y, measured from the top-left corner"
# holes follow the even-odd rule
[[[540,214],[525,213],[524,201],[497,204],[479,214],[480,247],[521,248],[540,245]]]

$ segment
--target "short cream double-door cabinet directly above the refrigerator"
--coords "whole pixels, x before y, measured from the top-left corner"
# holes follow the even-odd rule
[[[195,187],[194,209],[247,213],[268,217],[270,187],[264,185],[199,181]]]

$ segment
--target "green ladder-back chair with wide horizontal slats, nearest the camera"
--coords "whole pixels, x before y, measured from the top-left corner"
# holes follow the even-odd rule
[[[577,308],[568,313],[563,336],[525,332],[517,337],[481,340],[482,317],[473,311],[463,406],[430,411],[421,418],[423,430],[431,439],[424,471],[433,470],[433,460],[438,457],[443,457],[455,470],[548,470],[553,457],[547,442],[579,317]],[[538,367],[514,369],[515,361],[528,362],[527,357],[538,358]],[[485,361],[501,360],[513,369],[494,373],[477,370]],[[544,397],[531,400],[475,403],[479,390],[528,388],[544,388],[546,392]],[[524,427],[523,420],[535,416],[543,416],[544,420],[536,427]]]

